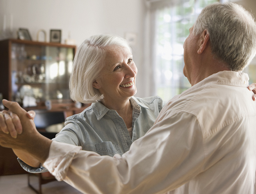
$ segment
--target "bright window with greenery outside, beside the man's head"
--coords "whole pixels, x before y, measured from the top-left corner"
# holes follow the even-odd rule
[[[183,0],[156,11],[156,95],[164,101],[191,85],[183,75],[183,43],[202,9],[218,0]]]

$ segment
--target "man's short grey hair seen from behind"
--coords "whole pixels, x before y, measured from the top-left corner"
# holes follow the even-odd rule
[[[232,71],[243,70],[256,54],[256,23],[242,6],[228,2],[206,6],[199,14],[194,34],[210,35],[212,54]]]

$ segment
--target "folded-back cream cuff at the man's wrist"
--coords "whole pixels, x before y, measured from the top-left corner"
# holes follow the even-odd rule
[[[74,156],[81,149],[81,146],[52,141],[49,156],[43,165],[58,181],[62,181],[67,175]]]

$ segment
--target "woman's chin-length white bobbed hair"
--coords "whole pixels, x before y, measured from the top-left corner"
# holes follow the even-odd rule
[[[113,46],[132,49],[128,42],[114,35],[99,34],[86,39],[77,48],[69,80],[70,98],[76,102],[92,103],[103,98],[92,83],[100,77],[106,53]]]

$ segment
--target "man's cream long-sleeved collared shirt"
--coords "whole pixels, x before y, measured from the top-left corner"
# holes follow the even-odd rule
[[[166,104],[122,156],[52,142],[44,166],[90,194],[253,194],[256,103],[248,75],[213,74]]]

